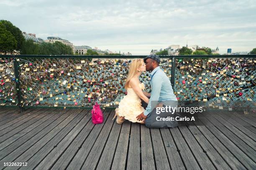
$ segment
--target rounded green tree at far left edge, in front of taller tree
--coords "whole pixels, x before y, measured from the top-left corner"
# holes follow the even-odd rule
[[[12,53],[17,48],[17,41],[10,31],[1,27],[0,24],[0,51]]]

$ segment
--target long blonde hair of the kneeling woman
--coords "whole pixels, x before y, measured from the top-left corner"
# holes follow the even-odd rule
[[[140,68],[142,65],[143,65],[142,59],[135,59],[131,62],[131,64],[129,65],[129,73],[126,78],[125,89],[128,88],[128,84],[130,80],[138,73],[138,68]]]

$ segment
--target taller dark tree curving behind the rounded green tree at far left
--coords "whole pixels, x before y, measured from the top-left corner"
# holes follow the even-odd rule
[[[25,42],[25,38],[18,27],[15,27],[10,21],[8,20],[0,20],[0,23],[6,30],[10,31],[10,33],[14,36],[15,40],[17,41],[17,46],[14,50],[20,51],[23,43]],[[0,25],[1,25],[0,24]]]

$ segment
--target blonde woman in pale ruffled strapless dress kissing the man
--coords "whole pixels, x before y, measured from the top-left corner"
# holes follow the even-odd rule
[[[129,66],[129,73],[125,83],[127,95],[120,101],[119,107],[115,109],[116,122],[122,124],[125,119],[131,122],[144,124],[144,121],[138,121],[137,116],[144,112],[141,106],[141,99],[148,104],[148,97],[143,94],[145,86],[140,83],[141,72],[146,71],[146,65],[142,59],[135,59]]]

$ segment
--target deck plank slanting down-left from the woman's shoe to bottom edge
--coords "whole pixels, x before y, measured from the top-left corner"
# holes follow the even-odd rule
[[[111,111],[111,114],[102,128],[100,135],[98,136],[97,140],[95,141],[92,150],[90,151],[89,155],[87,156],[82,169],[84,170],[95,170],[100,160],[100,156],[105,148],[105,144],[108,140],[108,136],[111,132],[113,127],[113,123],[115,123],[111,118],[114,116],[115,110]],[[108,149],[108,148],[106,148]]]

